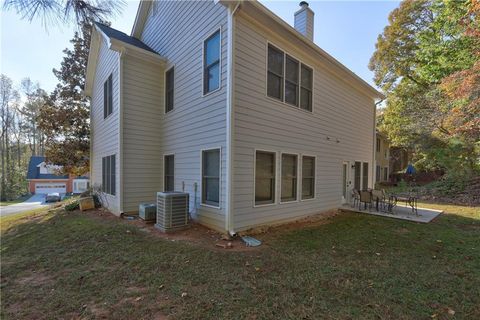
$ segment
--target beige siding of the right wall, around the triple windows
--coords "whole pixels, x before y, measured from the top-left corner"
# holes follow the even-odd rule
[[[253,27],[241,13],[236,25],[235,229],[293,220],[339,207],[342,162],[367,161],[370,170],[373,167],[373,99],[324,69],[325,61],[320,57],[305,54],[300,41],[292,43],[259,26]],[[266,97],[267,41],[313,68],[313,112]],[[254,206],[255,149],[277,152],[274,205]],[[315,199],[279,204],[281,152],[299,154],[300,159],[302,155],[316,156]]]

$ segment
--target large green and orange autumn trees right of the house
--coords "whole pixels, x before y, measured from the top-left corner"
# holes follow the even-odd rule
[[[418,169],[480,171],[480,3],[405,0],[370,61],[387,95],[379,123]]]

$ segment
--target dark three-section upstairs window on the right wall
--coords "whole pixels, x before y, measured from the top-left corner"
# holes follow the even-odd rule
[[[313,70],[268,45],[267,96],[312,111]]]

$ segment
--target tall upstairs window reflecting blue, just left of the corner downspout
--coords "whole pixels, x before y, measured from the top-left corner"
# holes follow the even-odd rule
[[[203,94],[220,88],[220,30],[203,43]]]

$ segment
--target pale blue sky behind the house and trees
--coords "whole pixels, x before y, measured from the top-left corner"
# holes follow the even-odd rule
[[[293,25],[299,1],[261,1],[267,8]],[[375,50],[378,35],[388,23],[388,14],[398,1],[309,1],[315,12],[314,42],[330,55],[373,85],[368,62]],[[138,1],[128,1],[122,13],[112,18],[112,27],[130,34]],[[48,25],[40,19],[23,20],[15,11],[1,9],[0,72],[16,85],[29,77],[47,91],[57,79],[52,73],[70,47],[76,27]]]

